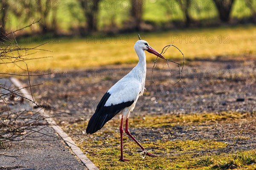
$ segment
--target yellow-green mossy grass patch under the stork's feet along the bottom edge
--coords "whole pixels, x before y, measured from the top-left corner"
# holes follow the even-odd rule
[[[86,156],[101,170],[146,170],[146,169],[253,169],[256,167],[256,150],[237,153],[211,153],[227,146],[224,142],[212,140],[198,141],[157,141],[143,143],[144,147],[158,157],[145,159],[135,142],[124,140],[124,156],[128,162],[120,162],[119,137],[95,142],[79,142]],[[205,152],[202,154],[201,152]],[[201,154],[200,154],[201,153]]]

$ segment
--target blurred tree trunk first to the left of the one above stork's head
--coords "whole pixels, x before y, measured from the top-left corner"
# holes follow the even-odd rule
[[[78,0],[82,10],[84,11],[84,17],[87,20],[87,31],[93,32],[98,30],[98,13],[100,0]]]

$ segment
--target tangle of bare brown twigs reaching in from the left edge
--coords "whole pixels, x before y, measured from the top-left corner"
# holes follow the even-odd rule
[[[33,22],[32,24],[38,23],[39,21]],[[25,88],[29,88],[29,91],[30,91],[29,93],[32,96],[31,97],[32,99],[30,98],[28,99],[24,97],[22,94],[20,94],[20,90],[22,90],[23,88],[15,89],[12,86],[7,87],[6,84],[0,84],[0,90],[5,91],[4,94],[0,95],[0,147],[5,147],[6,142],[8,142],[8,144],[12,142],[19,142],[19,141],[26,142],[26,139],[29,139],[30,137],[31,138],[36,137],[35,135],[29,136],[35,132],[41,133],[42,135],[49,135],[54,137],[53,134],[47,134],[45,132],[41,132],[40,130],[42,129],[38,130],[38,128],[35,128],[35,127],[38,127],[38,125],[42,125],[41,121],[44,121],[43,123],[44,128],[49,127],[49,125],[46,122],[49,116],[48,117],[43,116],[41,115],[41,113],[39,113],[39,111],[36,111],[33,109],[29,111],[21,111],[21,110],[15,111],[13,107],[12,108],[9,107],[9,105],[16,105],[17,103],[22,103],[24,101],[28,101],[28,103],[32,102],[33,104],[38,105],[35,102],[34,96],[32,93],[32,87],[37,85],[31,84],[30,77],[40,76],[40,75],[32,75],[33,73],[29,72],[29,68],[28,68],[28,65],[26,64],[26,61],[31,59],[47,58],[47,57],[27,58],[27,56],[31,54],[35,54],[36,53],[34,52],[35,50],[49,51],[49,50],[44,50],[39,48],[48,42],[37,45],[33,48],[24,48],[24,47],[22,48],[20,47],[20,45],[18,45],[15,37],[15,32],[20,31],[24,28],[30,27],[32,26],[32,24],[30,24],[29,26],[17,29],[16,31],[13,31],[12,26],[10,25],[10,28],[11,28],[10,33],[4,34],[3,32],[0,32],[1,34],[0,43],[2,45],[6,45],[6,47],[0,48],[0,60],[1,60],[0,65],[1,64],[7,65],[12,63],[16,65],[18,68],[20,68],[21,70],[26,71],[25,75],[12,74],[12,73],[0,73],[0,75],[28,77],[29,86]],[[8,36],[9,34],[12,34],[13,37]],[[29,54],[28,54],[28,51],[29,51]],[[30,53],[30,51],[33,51],[33,52]],[[17,65],[17,62],[23,62],[26,65],[26,67],[23,68],[20,65]],[[50,75],[50,74],[54,74],[54,73],[41,74],[41,76]],[[38,105],[38,107],[40,106]],[[40,110],[44,110],[44,109],[46,109],[45,105],[41,107]],[[34,130],[35,132],[31,132],[32,130]],[[29,144],[29,143],[26,142],[26,144]]]

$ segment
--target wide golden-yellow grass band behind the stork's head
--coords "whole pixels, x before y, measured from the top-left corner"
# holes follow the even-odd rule
[[[214,59],[218,56],[255,55],[255,29],[256,26],[247,25],[232,28],[201,28],[140,34],[157,51],[161,51],[166,45],[174,44],[180,48],[186,59]],[[37,69],[93,68],[100,65],[124,63],[134,63],[135,65],[138,61],[134,51],[136,40],[137,34],[119,34],[108,37],[95,35],[83,39],[54,38],[52,41],[55,41],[55,43],[51,42],[41,47],[53,52],[40,51],[28,56],[31,58],[52,56],[52,58],[29,60],[27,64],[31,71],[37,71]],[[22,47],[35,47],[39,43],[23,40],[20,45]],[[155,59],[153,54],[147,52],[146,56],[148,62]],[[172,47],[168,49],[164,56],[175,60],[182,59],[180,52]],[[22,62],[17,62],[17,65],[26,68],[26,65]],[[1,64],[1,69],[7,69],[8,71],[15,71],[16,69],[16,72],[20,70],[13,64]]]

